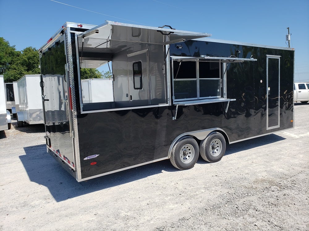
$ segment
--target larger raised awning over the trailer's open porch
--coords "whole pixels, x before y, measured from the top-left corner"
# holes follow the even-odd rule
[[[78,35],[78,45],[84,52],[116,53],[135,43],[172,44],[188,39],[211,36],[208,33],[175,30],[170,26],[140,26],[106,21]]]

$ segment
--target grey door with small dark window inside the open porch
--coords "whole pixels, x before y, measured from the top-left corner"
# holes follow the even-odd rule
[[[130,106],[150,104],[148,49],[127,55]]]

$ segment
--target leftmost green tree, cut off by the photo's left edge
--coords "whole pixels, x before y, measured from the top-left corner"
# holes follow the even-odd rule
[[[0,75],[3,75],[13,61],[20,55],[20,51],[16,51],[15,46],[10,46],[10,43],[3,37],[0,37]]]

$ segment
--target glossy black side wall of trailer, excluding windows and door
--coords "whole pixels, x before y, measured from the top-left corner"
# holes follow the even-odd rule
[[[133,165],[165,158],[171,143],[184,132],[222,128],[230,142],[292,128],[294,52],[233,44],[186,41],[179,53],[171,45],[171,55],[235,55],[257,61],[230,63],[227,67],[227,103],[107,111],[78,116],[79,151],[82,178],[116,171]],[[237,55],[237,54],[236,54]],[[266,130],[266,55],[280,55],[280,128]],[[285,61],[287,60],[287,61]],[[290,66],[288,66],[288,63]],[[261,82],[262,80],[262,82]],[[172,89],[171,89],[172,91]],[[171,112],[171,109],[172,112]],[[173,113],[173,114],[172,114]],[[87,156],[99,155],[83,160]],[[91,162],[97,162],[90,165]]]

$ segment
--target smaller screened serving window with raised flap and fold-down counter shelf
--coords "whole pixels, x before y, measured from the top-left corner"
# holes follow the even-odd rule
[[[173,102],[178,105],[229,102],[226,95],[226,69],[229,63],[256,61],[233,57],[171,56]]]

